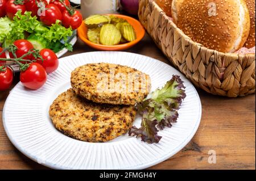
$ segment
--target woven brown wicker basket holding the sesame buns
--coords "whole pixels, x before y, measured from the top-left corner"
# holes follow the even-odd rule
[[[229,97],[255,92],[255,54],[221,53],[195,43],[154,0],[139,2],[139,20],[172,64],[194,85]]]

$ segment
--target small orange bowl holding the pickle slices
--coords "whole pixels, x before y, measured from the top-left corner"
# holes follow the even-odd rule
[[[136,20],[134,18],[131,18],[129,16],[125,16],[125,15],[119,15],[119,14],[108,14],[108,15],[115,15],[118,18],[126,19],[127,22],[130,23],[131,26],[133,26],[133,28],[136,32],[136,35],[137,35],[137,39],[134,40],[134,41],[131,41],[129,43],[119,44],[119,45],[112,45],[112,46],[92,43],[91,41],[88,40],[87,27],[85,26],[84,22],[82,22],[81,26],[77,29],[77,33],[78,33],[80,39],[92,48],[95,48],[95,49],[98,49],[98,50],[114,51],[114,50],[125,50],[125,49],[128,49],[130,47],[133,47],[133,45],[137,44],[144,37],[145,30],[144,30],[144,28],[142,27],[141,23],[138,20]]]

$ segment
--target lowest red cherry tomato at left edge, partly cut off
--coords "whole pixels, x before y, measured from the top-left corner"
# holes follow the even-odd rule
[[[0,70],[0,91],[7,90],[13,83],[13,71],[6,68],[5,71]]]

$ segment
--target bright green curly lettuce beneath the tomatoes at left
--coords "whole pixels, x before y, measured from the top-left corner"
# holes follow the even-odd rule
[[[3,20],[6,21],[6,19]],[[72,28],[63,27],[60,20],[56,20],[56,23],[50,27],[44,26],[42,22],[37,20],[36,16],[31,16],[30,11],[25,11],[24,14],[21,11],[16,12],[10,23],[10,30],[5,33],[1,33],[1,30],[0,42],[4,41],[4,47],[9,47],[15,40],[26,39],[27,33],[30,33],[40,37],[40,41],[44,41],[43,43],[48,45],[47,48],[53,48],[55,52],[63,48],[72,50],[72,45],[68,43],[69,36],[73,34]],[[61,43],[56,46],[55,44],[59,42]]]

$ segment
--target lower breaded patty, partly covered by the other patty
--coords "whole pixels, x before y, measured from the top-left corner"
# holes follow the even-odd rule
[[[60,94],[49,108],[49,116],[59,131],[88,142],[112,140],[131,127],[134,106],[92,103],[72,89]]]

